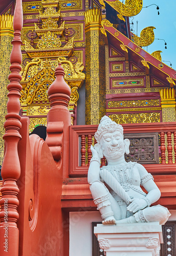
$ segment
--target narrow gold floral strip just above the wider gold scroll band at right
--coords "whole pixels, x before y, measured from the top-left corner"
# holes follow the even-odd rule
[[[122,101],[108,101],[108,108],[126,108],[134,106],[160,106],[159,99],[148,100],[122,100]]]

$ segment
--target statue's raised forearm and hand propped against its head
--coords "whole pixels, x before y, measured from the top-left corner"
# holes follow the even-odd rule
[[[95,159],[97,161],[91,161],[90,162],[89,170],[88,170],[88,176],[87,176],[89,184],[94,182],[94,181],[97,181],[97,180],[100,181],[100,176],[99,176],[100,157],[99,157],[98,152],[95,150],[95,148],[92,145],[91,145],[90,149],[91,149],[91,152],[92,152],[92,159]]]

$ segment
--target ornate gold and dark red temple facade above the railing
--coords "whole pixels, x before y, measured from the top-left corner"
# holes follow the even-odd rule
[[[129,5],[93,0],[22,1],[20,102],[21,115],[30,117],[30,133],[46,126],[47,90],[59,62],[71,88],[72,124],[97,124],[105,114],[118,123],[175,121],[173,70],[162,63],[161,51],[150,55],[141,48],[154,41],[154,27],[144,28],[140,37],[131,33],[129,16],[141,11],[142,2],[135,1],[133,9]],[[11,41],[12,11],[13,3],[2,15],[2,24],[9,19],[3,25],[8,32],[1,27],[2,51],[4,38]],[[5,47],[10,51],[8,40]],[[3,102],[1,108],[6,106]]]

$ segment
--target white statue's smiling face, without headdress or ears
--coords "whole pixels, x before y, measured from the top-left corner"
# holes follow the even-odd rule
[[[101,144],[102,152],[106,158],[118,159],[124,155],[125,147],[123,135],[118,131],[103,135]]]

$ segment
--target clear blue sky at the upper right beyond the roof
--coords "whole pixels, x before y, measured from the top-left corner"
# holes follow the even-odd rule
[[[121,0],[122,2],[122,0]],[[124,3],[124,1],[123,1]],[[164,39],[167,42],[165,49],[163,40],[154,40],[153,44],[145,47],[144,50],[148,53],[154,51],[162,51],[161,57],[163,60],[168,60],[172,63],[172,68],[176,70],[176,0],[143,0],[143,7],[156,4],[159,6],[160,15],[155,5],[142,8],[141,12],[130,18],[130,23],[134,22],[134,30],[136,34],[136,22],[138,21],[138,36],[142,29],[153,26],[155,38]],[[169,62],[164,62],[170,67]]]

